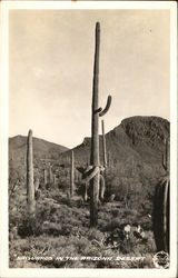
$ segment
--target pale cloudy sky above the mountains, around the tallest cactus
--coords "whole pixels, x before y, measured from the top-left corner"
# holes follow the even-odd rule
[[[106,132],[131,116],[169,120],[169,10],[10,10],[9,136],[68,148],[91,135],[95,24]]]

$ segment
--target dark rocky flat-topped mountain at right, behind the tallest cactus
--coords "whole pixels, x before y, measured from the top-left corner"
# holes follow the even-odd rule
[[[134,157],[148,163],[160,163],[165,149],[164,140],[169,137],[169,121],[159,117],[130,117],[121,121],[106,135],[109,159],[112,163],[126,161]],[[73,148],[77,161],[88,161],[90,157],[90,138]],[[63,153],[68,155],[68,151]],[[102,143],[100,136],[100,161],[102,163]]]

